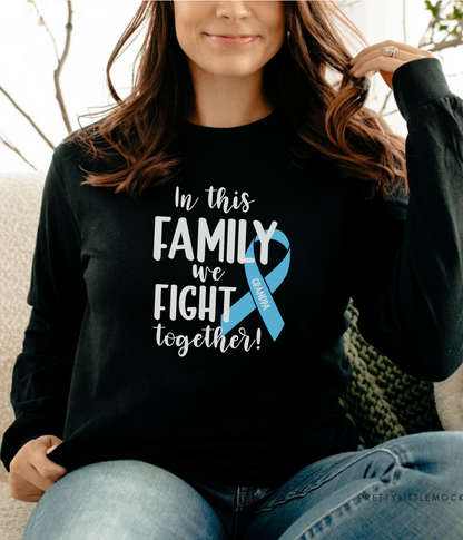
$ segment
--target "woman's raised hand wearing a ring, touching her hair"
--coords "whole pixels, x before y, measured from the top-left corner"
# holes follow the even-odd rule
[[[384,56],[385,47],[396,47],[395,57]],[[417,60],[420,58],[432,58],[434,55],[428,50],[417,49],[411,45],[400,43],[398,41],[383,41],[363,49],[349,63],[349,73],[353,77],[365,77],[370,71],[380,71],[384,82],[391,88],[394,71],[403,63]]]

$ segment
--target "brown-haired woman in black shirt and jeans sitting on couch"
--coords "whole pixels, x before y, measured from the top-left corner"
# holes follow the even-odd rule
[[[351,296],[408,373],[462,362],[463,101],[406,43],[349,61],[336,22],[137,11],[109,62],[147,23],[130,96],[109,79],[45,186],[2,446],[24,538],[460,538],[462,434],[362,450],[338,396]],[[364,107],[375,70],[406,148]]]

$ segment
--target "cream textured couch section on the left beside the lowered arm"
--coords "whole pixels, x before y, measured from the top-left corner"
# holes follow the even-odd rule
[[[0,174],[0,438],[14,419],[11,372],[30,315],[26,298],[43,179],[43,173]],[[0,539],[19,540],[36,504],[12,499],[7,479],[0,464]]]

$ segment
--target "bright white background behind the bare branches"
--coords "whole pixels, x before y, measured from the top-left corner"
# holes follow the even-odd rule
[[[67,3],[65,0],[38,0],[37,7],[52,31],[58,50],[65,43]],[[70,53],[61,75],[62,92],[73,129],[77,117],[98,110],[110,101],[106,88],[108,58],[140,4],[139,0],[75,0],[73,31]],[[404,39],[403,10],[406,11]],[[416,46],[430,20],[423,0],[359,0],[346,8],[347,13],[364,33],[370,45],[393,39]],[[35,3],[27,0],[0,0],[0,86],[36,120],[55,145],[67,131],[55,99],[53,70],[57,60],[45,26],[38,24]],[[112,69],[115,86],[125,96],[130,86],[130,65],[137,43],[116,62]],[[463,96],[463,47],[436,55],[443,65],[453,92]],[[459,58],[460,57],[460,58]],[[388,91],[380,75],[372,80],[368,106],[377,110]],[[390,108],[395,107],[394,99]],[[95,118],[96,119],[96,118]],[[95,121],[82,119],[82,124]],[[406,135],[400,114],[386,117],[394,131]],[[47,170],[51,149],[33,131],[11,102],[0,94],[0,134],[18,146],[38,169]],[[20,157],[0,144],[0,170],[31,170]]]

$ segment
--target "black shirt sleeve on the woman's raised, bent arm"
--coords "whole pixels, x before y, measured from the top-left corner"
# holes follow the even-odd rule
[[[364,338],[437,382],[463,362],[463,100],[436,58],[402,65],[393,89],[408,129],[410,196],[355,208],[349,294]]]

